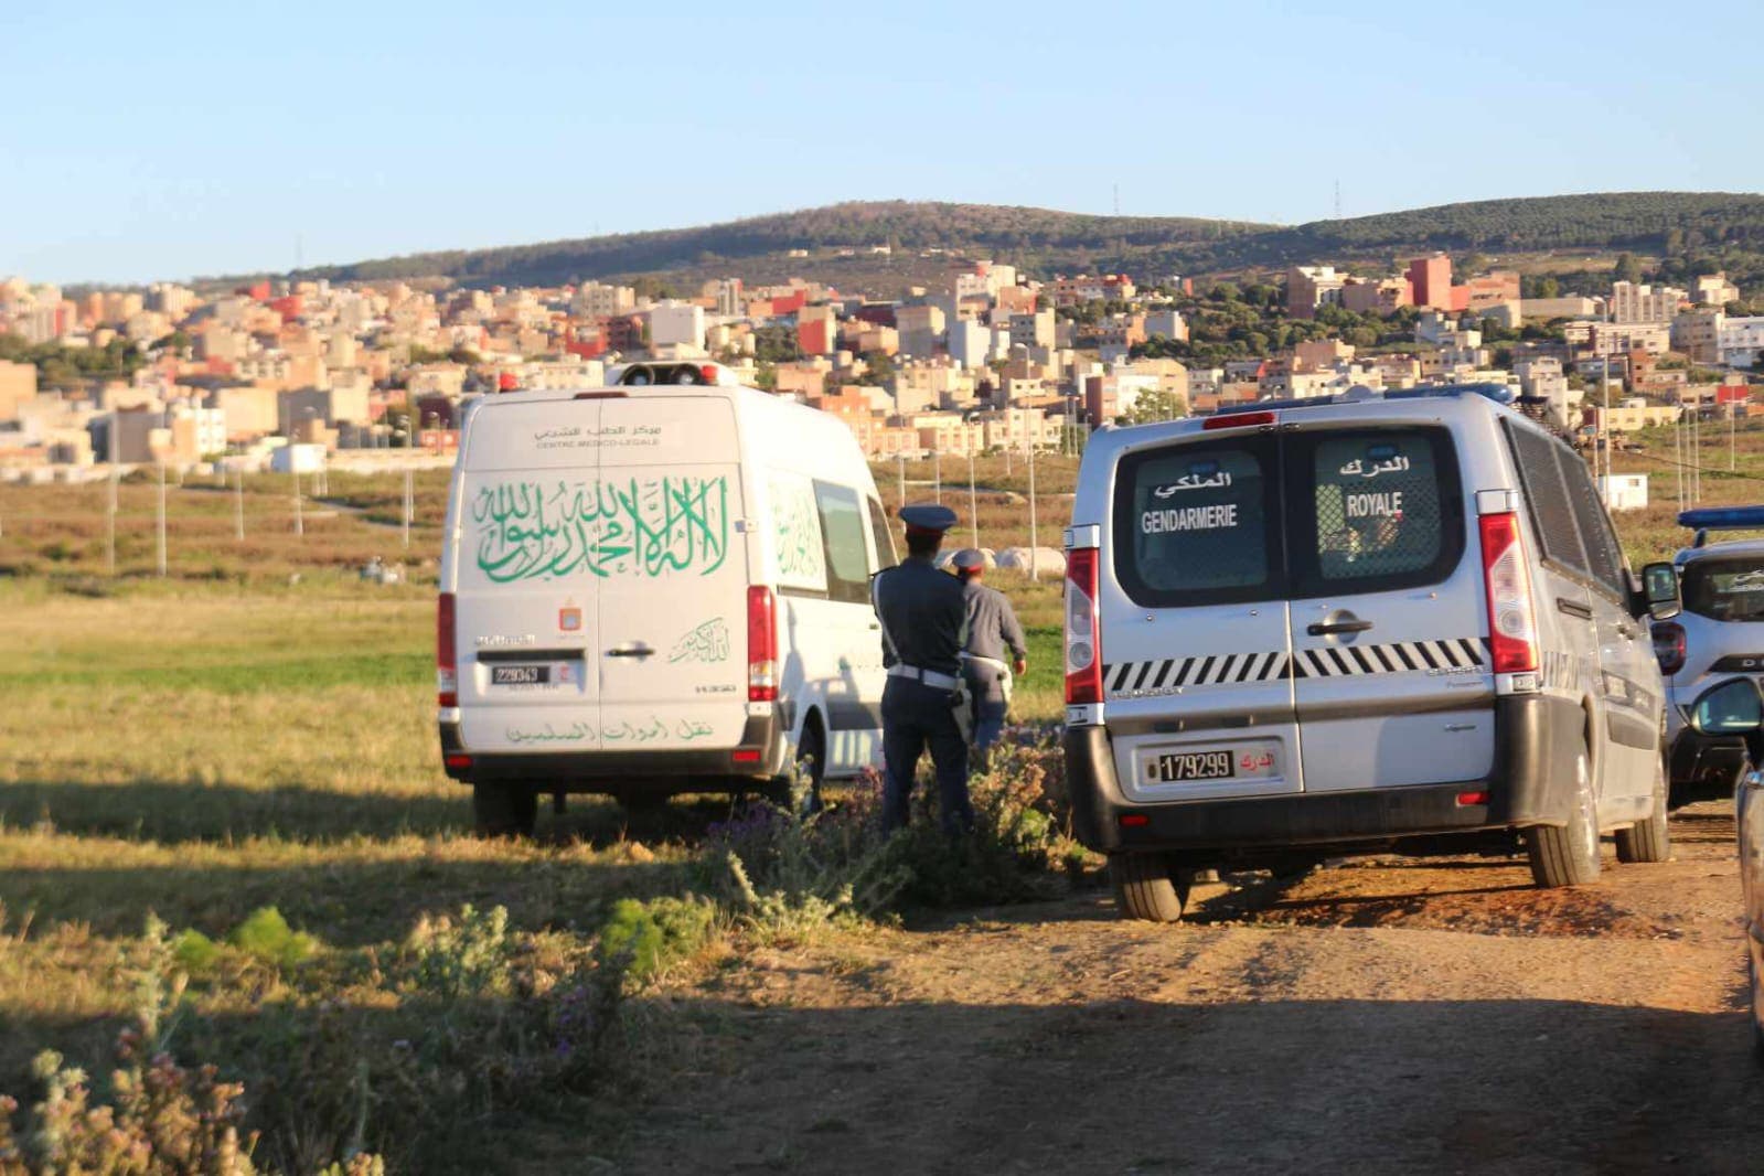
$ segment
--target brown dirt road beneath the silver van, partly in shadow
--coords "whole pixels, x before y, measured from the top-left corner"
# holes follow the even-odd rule
[[[616,1167],[1764,1171],[1732,822],[1674,834],[1573,892],[1353,862],[1177,927],[1087,894],[762,952]]]

